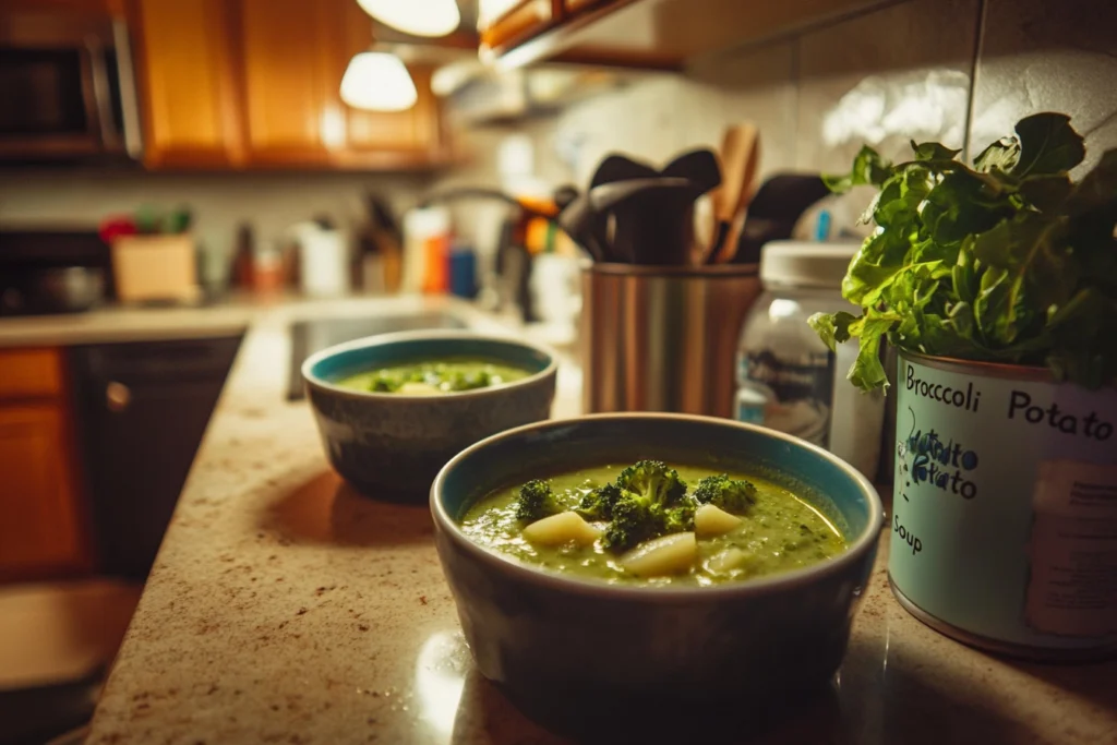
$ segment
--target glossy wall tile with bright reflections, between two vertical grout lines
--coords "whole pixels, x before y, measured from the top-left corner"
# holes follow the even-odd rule
[[[863,144],[905,160],[910,140],[961,149],[978,0],[913,0],[803,35],[799,39],[795,161],[844,172]],[[856,226],[871,190],[827,207],[834,229]]]

